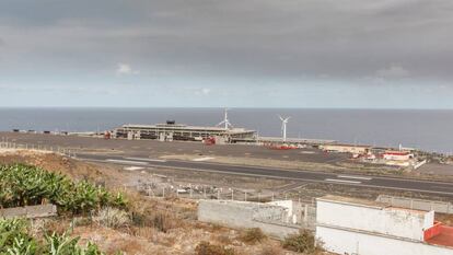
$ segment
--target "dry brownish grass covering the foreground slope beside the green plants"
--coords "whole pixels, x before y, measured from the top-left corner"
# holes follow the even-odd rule
[[[95,181],[97,177],[106,179],[106,186],[118,188],[126,178],[137,173],[120,172],[109,166],[96,167],[93,164],[78,162],[55,154],[20,154],[1,157],[0,162],[22,162],[36,164],[45,169],[61,172],[72,178],[88,178]],[[133,177],[133,176],[132,176]],[[137,176],[136,176],[137,177]],[[123,190],[129,200],[126,212],[100,212],[93,217],[78,219],[57,218],[44,222],[45,229],[58,233],[65,232],[71,222],[74,223],[73,236],[81,236],[81,243],[94,242],[107,254],[125,252],[126,254],[175,254],[193,255],[200,242],[210,242],[202,251],[223,251],[231,254],[270,254],[278,252],[278,242],[275,240],[256,241],[255,245],[246,244],[239,237],[239,231],[224,228],[219,224],[198,222],[197,204],[193,200],[179,198],[160,199],[140,196],[138,193]],[[111,213],[112,212],[112,213]],[[131,221],[125,220],[126,215]],[[127,227],[127,228],[125,228]],[[43,229],[36,225],[36,229]],[[38,232],[38,231],[36,231]],[[254,237],[255,239],[255,237]],[[265,245],[265,246],[264,246]],[[201,253],[204,254],[204,253]],[[206,254],[206,253],[205,253]],[[214,255],[216,253],[207,253]],[[290,253],[292,254],[292,253]]]

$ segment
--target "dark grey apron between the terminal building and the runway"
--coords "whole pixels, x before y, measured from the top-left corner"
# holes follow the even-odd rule
[[[161,142],[156,140],[97,139],[78,136],[54,136],[43,134],[0,132],[0,141],[27,144],[28,148],[66,148],[71,151],[120,152],[124,155],[149,157],[167,154],[193,154],[211,157],[240,157],[280,161],[335,163],[349,159],[346,153],[325,153],[315,149],[270,150],[259,146],[205,146],[201,142]]]

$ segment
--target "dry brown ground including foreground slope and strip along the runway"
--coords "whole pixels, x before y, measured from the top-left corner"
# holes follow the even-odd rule
[[[249,194],[264,194],[266,190],[276,194],[277,198],[300,199],[313,201],[316,197],[327,194],[351,196],[358,198],[375,199],[380,194],[408,196],[405,193],[391,190],[378,190],[372,188],[358,188],[341,185],[303,183],[289,181],[274,181],[262,177],[226,176],[216,173],[200,173],[191,171],[172,171],[169,169],[147,169],[146,171],[128,171],[121,166],[109,164],[94,164],[73,160],[71,158],[32,150],[0,150],[0,163],[26,163],[43,169],[60,172],[73,179],[90,179],[104,184],[111,188],[121,188],[128,193],[132,207],[143,213],[163,212],[169,217],[169,225],[165,232],[154,228],[126,227],[106,228],[93,223],[79,223],[73,229],[73,235],[82,236],[82,242],[97,243],[103,251],[114,254],[117,251],[127,251],[127,254],[194,254],[195,246],[201,241],[233,247],[237,254],[269,254],[268,251],[277,251],[270,254],[294,254],[284,251],[280,242],[266,239],[257,244],[246,244],[240,240],[241,230],[233,230],[220,225],[198,222],[196,200],[169,196],[165,199],[151,196],[141,196],[135,189],[125,189],[125,184],[133,186],[139,183],[154,182],[155,175],[166,176],[171,185],[198,184],[216,185],[220,187],[234,187],[247,190]],[[236,162],[241,163],[241,162]],[[268,162],[266,162],[268,163]],[[236,196],[236,194],[235,194]],[[427,198],[422,195],[410,194],[413,197]],[[187,197],[187,196],[186,196]],[[430,197],[432,198],[432,197]],[[268,197],[269,199],[269,197]],[[442,199],[442,198],[438,198]],[[437,215],[437,219],[453,224],[451,216]],[[66,229],[70,219],[58,219],[55,224]]]

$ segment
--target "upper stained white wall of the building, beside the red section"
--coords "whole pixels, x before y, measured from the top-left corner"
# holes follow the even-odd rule
[[[423,241],[423,229],[430,228],[433,222],[433,213],[317,200],[317,224]]]

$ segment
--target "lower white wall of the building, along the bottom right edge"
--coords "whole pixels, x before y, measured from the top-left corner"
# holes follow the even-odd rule
[[[453,250],[421,242],[390,239],[340,229],[316,227],[324,247],[338,254],[360,255],[452,255]]]

